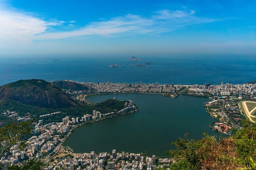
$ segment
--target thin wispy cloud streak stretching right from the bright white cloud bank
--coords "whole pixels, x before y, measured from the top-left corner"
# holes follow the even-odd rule
[[[196,17],[194,14],[195,11],[193,10],[162,10],[148,18],[144,18],[139,15],[127,14],[126,16],[112,18],[109,21],[92,22],[78,30],[43,33],[37,35],[36,38],[60,39],[87,35],[109,36],[114,34],[157,34],[172,31],[178,27],[216,21],[215,19]]]

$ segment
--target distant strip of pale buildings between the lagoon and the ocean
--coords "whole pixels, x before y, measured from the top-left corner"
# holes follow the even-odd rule
[[[203,95],[204,93],[210,93],[213,96],[230,96],[241,95],[253,97],[256,95],[255,84],[238,84],[233,85],[230,83],[221,82],[220,85],[206,83],[204,85],[174,85],[174,84],[159,84],[159,83],[92,83],[92,82],[77,82],[91,88],[89,93],[175,93],[182,87],[188,87],[188,93],[194,93],[196,95]],[[89,94],[80,91],[74,94]],[[73,94],[73,93],[72,93]]]

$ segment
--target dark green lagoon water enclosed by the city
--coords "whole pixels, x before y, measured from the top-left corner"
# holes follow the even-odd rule
[[[138,112],[125,114],[78,127],[65,141],[74,152],[126,152],[165,156],[174,149],[171,143],[188,132],[198,140],[203,132],[214,135],[209,128],[214,119],[207,114],[203,103],[207,98],[178,96],[169,98],[153,94],[94,95],[87,99],[92,103],[116,97],[131,99],[139,107]]]

